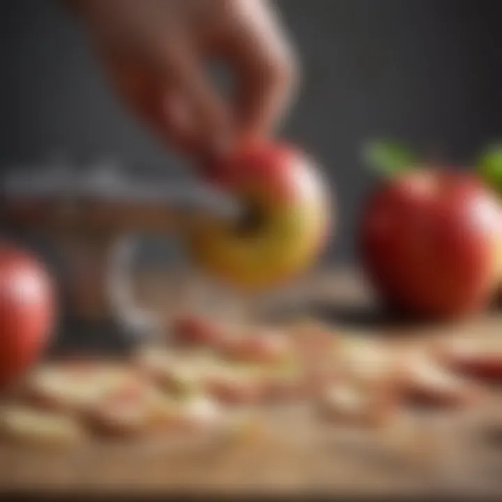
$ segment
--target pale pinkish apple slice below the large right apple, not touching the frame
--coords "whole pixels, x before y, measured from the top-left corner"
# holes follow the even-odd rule
[[[404,354],[398,385],[407,400],[429,406],[469,406],[483,395],[475,383],[450,372],[420,349]]]

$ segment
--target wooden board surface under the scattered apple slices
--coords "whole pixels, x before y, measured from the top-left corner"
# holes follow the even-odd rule
[[[162,308],[166,278],[145,277],[139,297]],[[497,312],[455,326],[388,317],[354,271],[321,271],[297,286],[282,302],[280,296],[265,298],[265,305],[285,317],[319,316],[354,336],[374,333],[403,342],[448,330],[502,332]],[[410,416],[404,423],[410,428],[401,432],[355,432],[323,425],[302,409],[275,409],[260,416],[257,432],[241,439],[156,439],[59,452],[0,446],[0,493],[138,499],[182,493],[502,495],[502,399],[494,394],[485,409],[469,414]]]

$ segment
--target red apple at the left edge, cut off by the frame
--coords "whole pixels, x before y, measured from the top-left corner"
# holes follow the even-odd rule
[[[20,377],[45,349],[56,321],[50,275],[35,258],[0,248],[0,389]]]

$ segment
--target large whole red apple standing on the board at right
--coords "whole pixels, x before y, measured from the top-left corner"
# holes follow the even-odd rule
[[[368,200],[360,229],[363,266],[390,306],[449,319],[489,303],[501,273],[501,208],[476,176],[416,169]]]

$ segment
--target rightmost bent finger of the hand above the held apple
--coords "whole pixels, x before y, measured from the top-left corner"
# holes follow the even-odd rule
[[[287,37],[265,1],[237,0],[227,51],[236,68],[236,121],[243,137],[271,134],[298,86],[298,65]]]

